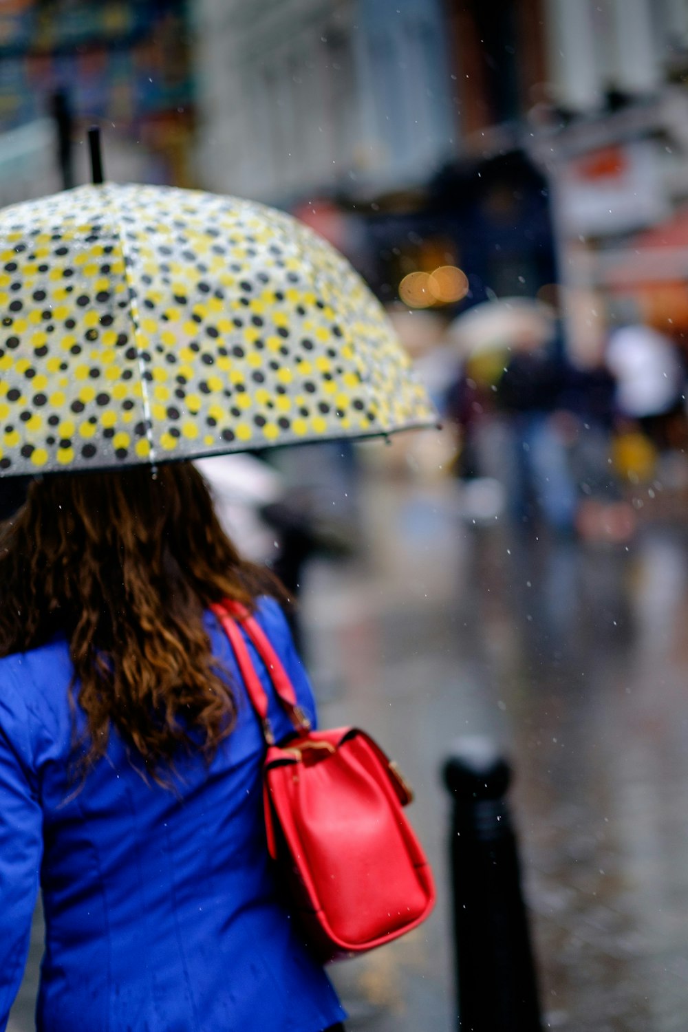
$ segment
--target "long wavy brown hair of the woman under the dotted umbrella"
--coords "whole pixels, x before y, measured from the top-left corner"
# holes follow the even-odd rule
[[[190,462],[48,476],[0,524],[0,655],[66,636],[84,776],[112,725],[163,783],[179,748],[215,754],[236,704],[203,610],[265,591],[276,580],[240,558]]]

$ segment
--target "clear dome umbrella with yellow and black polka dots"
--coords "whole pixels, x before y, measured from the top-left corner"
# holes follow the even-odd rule
[[[7,207],[0,314],[0,475],[436,418],[345,259],[233,197],[103,184]]]

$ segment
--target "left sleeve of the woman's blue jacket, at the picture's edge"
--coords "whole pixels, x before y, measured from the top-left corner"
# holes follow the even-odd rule
[[[30,721],[0,672],[0,1032],[24,974],[42,857]]]

